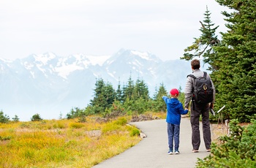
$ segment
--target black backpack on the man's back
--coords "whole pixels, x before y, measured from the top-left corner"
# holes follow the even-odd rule
[[[206,72],[203,72],[203,77],[187,75],[187,77],[193,77],[195,80],[192,89],[192,100],[200,104],[212,102],[214,99],[214,91],[211,85],[211,80],[210,78],[207,78],[206,75]]]

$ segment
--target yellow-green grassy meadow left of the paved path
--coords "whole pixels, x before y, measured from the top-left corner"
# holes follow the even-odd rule
[[[140,142],[127,118],[0,124],[0,167],[92,167]]]

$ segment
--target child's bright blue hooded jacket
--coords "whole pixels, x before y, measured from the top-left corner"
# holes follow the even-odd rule
[[[180,125],[181,115],[187,114],[189,110],[184,110],[183,105],[177,98],[170,99],[167,96],[162,96],[162,99],[165,100],[165,104],[167,106],[166,122]]]

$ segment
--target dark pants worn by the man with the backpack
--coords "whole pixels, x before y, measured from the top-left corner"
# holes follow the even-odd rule
[[[197,104],[192,102],[190,123],[192,126],[192,146],[193,150],[198,150],[200,146],[199,118],[202,115],[203,140],[206,149],[211,149],[211,129],[209,121],[209,104]]]

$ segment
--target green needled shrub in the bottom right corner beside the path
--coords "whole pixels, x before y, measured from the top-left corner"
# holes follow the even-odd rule
[[[230,136],[220,137],[220,145],[211,145],[211,155],[198,159],[197,167],[256,167],[256,120],[247,126],[230,121]]]

